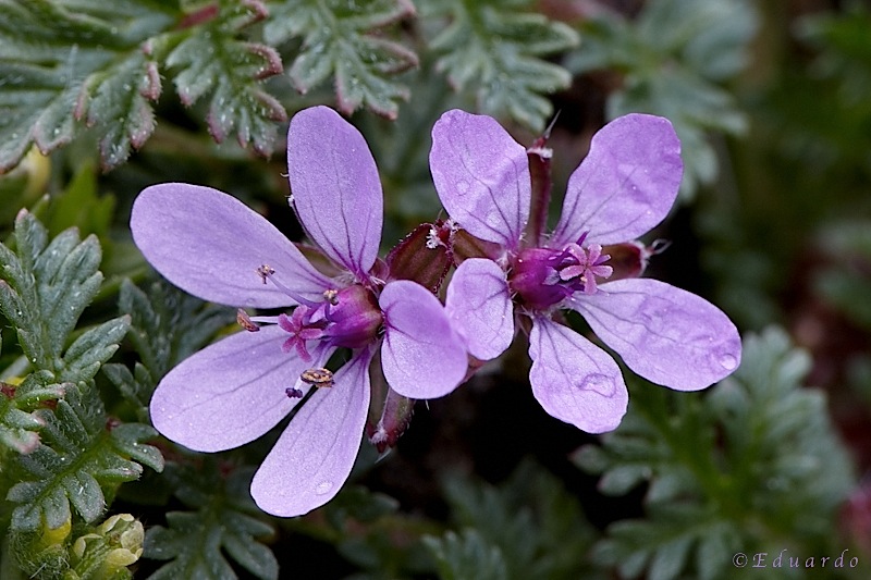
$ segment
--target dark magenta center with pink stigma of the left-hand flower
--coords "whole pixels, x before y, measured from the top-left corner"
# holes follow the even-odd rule
[[[383,321],[375,294],[359,284],[340,291],[328,289],[322,303],[302,304],[290,316],[279,316],[279,326],[291,335],[282,348],[285,351],[296,349],[305,361],[311,360],[308,351],[311,341],[361,348],[378,337]]]

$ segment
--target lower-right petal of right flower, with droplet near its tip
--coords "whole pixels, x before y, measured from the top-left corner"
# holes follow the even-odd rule
[[[698,391],[740,363],[740,336],[728,317],[664,282],[609,282],[593,296],[574,298],[572,308],[633,371],[657,384]]]

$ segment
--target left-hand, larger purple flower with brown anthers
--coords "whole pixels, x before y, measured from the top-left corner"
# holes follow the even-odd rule
[[[240,307],[295,306],[278,317],[241,311],[241,324],[256,332],[233,334],[184,360],[160,382],[150,406],[163,435],[218,452],[259,437],[315,390],[252,483],[257,504],[277,516],[327,503],[347,479],[379,345],[389,384],[412,398],[452,391],[467,368],[432,293],[372,274],[383,201],[363,136],[330,109],[304,110],[291,121],[287,165],[292,205],[338,275],[315,268],[266,219],[208,187],[148,187],[131,218],[148,261],[188,293]],[[340,347],[352,356],[329,380],[320,368]]]

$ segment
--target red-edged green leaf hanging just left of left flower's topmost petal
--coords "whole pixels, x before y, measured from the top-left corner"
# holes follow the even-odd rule
[[[167,57],[176,71],[182,102],[193,104],[209,95],[206,121],[216,141],[235,132],[242,147],[272,152],[277,122],[287,120],[284,108],[263,90],[261,81],[282,72],[281,57],[269,46],[243,40],[242,30],[267,16],[258,0],[222,0],[217,17],[176,33],[181,41]]]

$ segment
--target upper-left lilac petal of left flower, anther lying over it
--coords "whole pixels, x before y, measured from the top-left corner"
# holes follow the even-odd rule
[[[180,288],[213,303],[274,308],[296,304],[257,269],[299,295],[322,299],[332,284],[262,215],[232,196],[198,185],[147,187],[133,203],[133,240]]]

